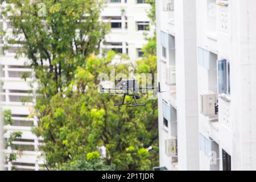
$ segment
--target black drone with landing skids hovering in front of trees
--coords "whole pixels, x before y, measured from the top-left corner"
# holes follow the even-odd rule
[[[105,90],[117,92],[111,95],[123,96],[123,100],[121,104],[114,104],[114,106],[125,106],[129,105],[129,107],[139,107],[146,106],[146,104],[138,104],[137,100],[139,100],[140,95],[146,94],[143,93],[142,90],[154,90],[154,92],[163,93],[160,89],[160,82],[158,82],[158,87],[141,87],[137,86],[138,81],[135,79],[121,80],[116,88],[104,88],[100,85],[100,92],[105,93]],[[125,103],[126,96],[130,96],[134,99],[135,104],[131,105],[131,102]]]

